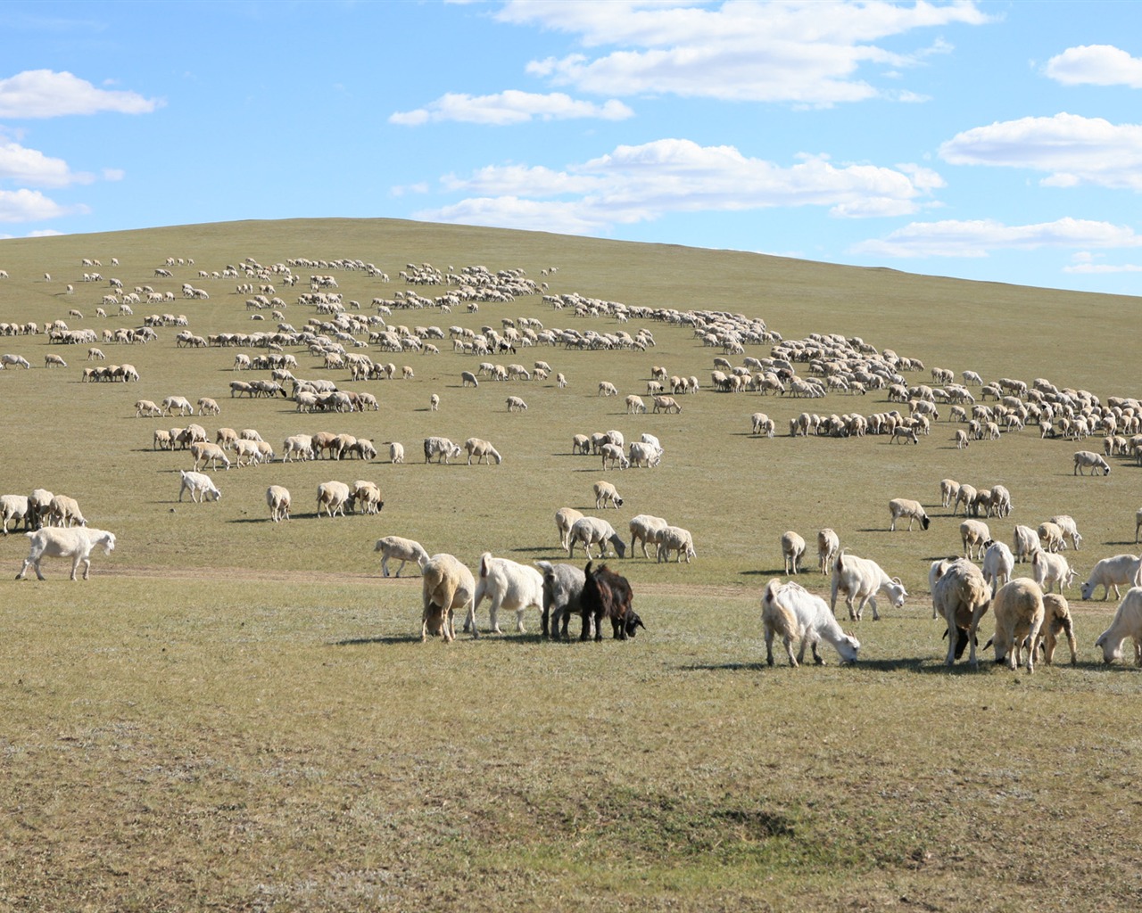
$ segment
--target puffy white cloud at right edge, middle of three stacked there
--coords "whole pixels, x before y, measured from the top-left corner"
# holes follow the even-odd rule
[[[1142,191],[1142,124],[1060,113],[1021,118],[957,134],[940,147],[951,164],[1046,171],[1044,186]]]

